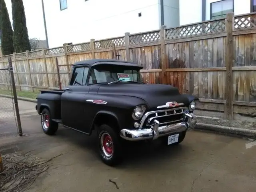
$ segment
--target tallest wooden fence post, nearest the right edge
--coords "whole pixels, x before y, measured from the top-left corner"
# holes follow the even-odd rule
[[[233,119],[233,78],[232,78],[232,66],[233,66],[233,25],[234,25],[234,13],[228,13],[226,21],[226,104],[224,117],[225,119],[232,120]]]

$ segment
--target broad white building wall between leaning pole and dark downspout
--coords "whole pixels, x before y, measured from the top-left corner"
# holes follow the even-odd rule
[[[44,0],[50,47],[88,42],[159,28],[158,0]],[[138,13],[142,14],[138,17]]]

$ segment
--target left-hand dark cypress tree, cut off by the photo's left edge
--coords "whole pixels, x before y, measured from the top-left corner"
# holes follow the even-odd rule
[[[3,55],[14,52],[12,24],[4,0],[0,0],[0,39]]]

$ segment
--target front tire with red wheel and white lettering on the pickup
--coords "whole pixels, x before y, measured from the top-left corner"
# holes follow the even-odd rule
[[[98,150],[102,161],[109,166],[122,162],[122,142],[114,128],[104,124],[98,129]]]

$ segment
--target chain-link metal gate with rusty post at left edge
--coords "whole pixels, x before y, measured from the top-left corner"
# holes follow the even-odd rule
[[[4,95],[0,94],[0,138],[14,136],[17,133],[22,136],[11,58],[8,58],[7,64],[0,63],[0,74],[0,89],[5,93]]]

